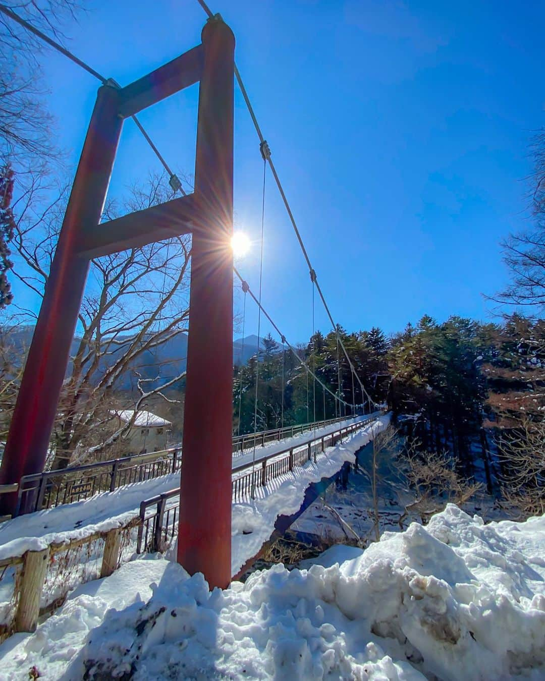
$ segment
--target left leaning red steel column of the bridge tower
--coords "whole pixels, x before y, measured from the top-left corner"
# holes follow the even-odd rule
[[[34,330],[0,468],[0,484],[44,469],[51,430],[74,338],[89,261],[78,257],[78,234],[99,223],[123,121],[119,93],[102,86],[72,185],[59,243]],[[16,494],[0,496],[12,513]]]

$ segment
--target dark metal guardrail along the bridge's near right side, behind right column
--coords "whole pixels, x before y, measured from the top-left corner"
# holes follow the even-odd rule
[[[354,424],[349,424],[339,430],[334,430],[323,437],[311,437],[304,443],[275,452],[260,459],[256,466],[241,464],[233,469],[231,491],[233,501],[249,498],[253,485],[255,487],[266,484],[280,475],[293,471],[296,467],[305,466],[312,459],[316,463],[317,454],[324,452],[326,447],[336,445],[343,436],[359,430],[375,416],[371,416]],[[343,419],[345,420],[345,419]],[[180,488],[174,488],[153,498],[146,499],[140,504],[140,525],[138,526],[138,541],[136,552],[162,552],[169,539],[176,534],[176,520],[180,513]]]

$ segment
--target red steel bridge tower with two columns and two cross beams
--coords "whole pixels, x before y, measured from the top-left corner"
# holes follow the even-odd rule
[[[189,573],[203,572],[211,587],[225,587],[231,578],[234,35],[217,15],[206,22],[201,39],[124,88],[113,81],[99,88],[22,376],[0,484],[44,469],[91,259],[191,232],[178,560]],[[193,194],[100,223],[123,119],[196,82]],[[16,497],[0,496],[0,514],[14,511]]]

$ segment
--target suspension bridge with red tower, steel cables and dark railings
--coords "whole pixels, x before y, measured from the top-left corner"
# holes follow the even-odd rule
[[[142,462],[136,466],[125,466],[120,460],[106,462],[112,465],[112,471],[105,474],[104,471],[96,471],[87,475],[91,479],[91,486],[87,479],[79,488],[76,486],[74,492],[74,483],[72,482],[72,487],[68,486],[69,471],[63,471],[63,488],[61,484],[54,484],[53,478],[57,472],[44,473],[44,464],[91,259],[143,247],[181,234],[191,234],[190,324],[181,447],[183,456],[180,458],[173,451],[172,456],[163,456],[160,464],[155,462],[153,465],[161,474],[164,471],[172,473],[177,471],[180,460],[183,460],[180,488],[175,490],[179,498],[178,562],[189,573],[204,573],[211,587],[225,587],[231,580],[233,496],[246,494],[253,498],[256,488],[266,484],[271,476],[275,477],[291,471],[294,466],[304,465],[317,455],[320,447],[323,452],[326,446],[324,439],[334,443],[343,437],[343,430],[346,434],[360,428],[367,419],[356,417],[356,413],[361,411],[362,405],[367,405],[371,412],[373,401],[367,394],[362,378],[339,334],[339,326],[326,302],[272,161],[270,147],[262,134],[249,95],[236,68],[234,35],[219,14],[213,14],[203,0],[198,1],[208,15],[202,30],[202,42],[126,86],[102,76],[55,40],[0,5],[3,14],[61,52],[101,83],[7,438],[0,468],[0,484],[4,486],[6,493],[0,496],[0,511],[14,515],[22,509],[21,505],[25,510],[40,509],[44,504],[55,505],[59,503],[59,498],[57,502],[53,502],[52,494],[57,494],[59,490],[64,490],[62,493],[65,494],[65,501],[71,501],[74,496],[77,498],[78,492],[80,495],[89,492],[95,494],[101,489],[102,482],[99,480],[102,475],[110,476],[109,484],[113,488],[120,486],[119,476],[123,475],[123,471],[125,476],[129,469],[138,469],[139,472],[135,475],[147,475],[145,466],[149,466],[150,462]],[[263,161],[261,266],[257,293],[253,292],[243,275],[234,268],[230,243],[233,223],[235,80],[253,121]],[[195,83],[200,85],[195,183],[193,191],[187,193],[138,120],[137,114]],[[127,118],[136,123],[165,168],[175,197],[158,206],[102,222],[116,148],[123,122]],[[275,181],[309,272],[313,292],[313,334],[315,297],[324,307],[336,334],[336,386],[328,385],[317,373],[315,353],[310,362],[305,360],[262,304],[265,187],[268,174]],[[282,423],[275,434],[277,449],[266,452],[267,447],[264,445],[268,434],[258,432],[260,362],[255,362],[254,428],[253,433],[244,436],[253,440],[251,451],[242,447],[247,460],[240,464],[240,470],[236,469],[238,464],[233,464],[234,447],[238,445],[232,439],[234,276],[240,283],[245,300],[249,295],[258,307],[258,351],[261,321],[264,317],[281,340],[283,358],[287,347],[287,351],[294,355],[307,375],[311,384],[311,394],[307,392],[307,404],[309,407],[312,405],[313,414],[309,428],[311,434],[305,443],[290,443],[285,440],[287,433],[284,432]],[[345,400],[341,389],[341,355],[344,355],[352,381],[350,401]],[[336,419],[333,423],[318,422],[316,418],[317,386],[320,386],[319,392],[321,390],[324,400],[328,394],[334,402]],[[360,392],[358,400],[356,386]],[[347,423],[345,418],[348,414],[354,419]],[[290,434],[290,438],[293,437],[294,432]],[[298,452],[302,454],[299,456]],[[104,462],[100,465],[104,465]],[[82,471],[72,473],[77,476]],[[130,481],[125,477],[124,484]],[[69,489],[72,493],[67,491]]]

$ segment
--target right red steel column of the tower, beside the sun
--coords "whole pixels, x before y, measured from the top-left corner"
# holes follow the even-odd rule
[[[202,31],[178,563],[211,588],[231,581],[234,35]]]

